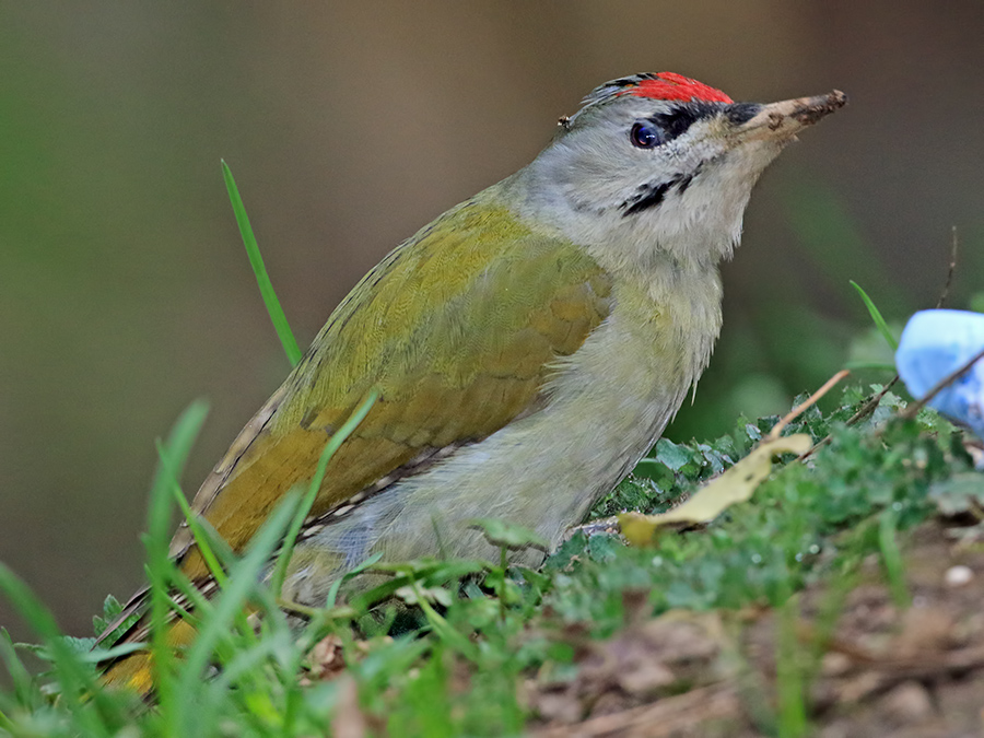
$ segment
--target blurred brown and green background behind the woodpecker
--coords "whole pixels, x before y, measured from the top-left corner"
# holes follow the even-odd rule
[[[878,345],[848,279],[889,319],[932,306],[956,225],[951,304],[981,289],[982,69],[980,0],[3,3],[0,560],[89,634],[141,584],[154,438],[211,401],[192,494],[284,377],[220,157],[306,344],[596,84],[844,90],[765,174],[724,268],[724,335],[669,432],[710,437]],[[0,624],[27,636],[5,602]]]

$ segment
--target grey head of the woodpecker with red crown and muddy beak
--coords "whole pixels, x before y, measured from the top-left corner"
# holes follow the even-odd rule
[[[613,80],[561,118],[528,167],[527,208],[613,265],[716,263],[738,242],[762,171],[845,102],[834,91],[735,103],[672,72]]]

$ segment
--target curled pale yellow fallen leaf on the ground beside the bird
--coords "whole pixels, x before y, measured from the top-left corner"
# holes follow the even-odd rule
[[[633,546],[645,546],[653,540],[656,528],[671,523],[707,523],[738,502],[750,499],[760,483],[772,471],[772,457],[776,454],[805,454],[812,446],[805,433],[764,441],[743,459],[712,480],[679,507],[660,515],[622,513],[619,525],[622,535]]]

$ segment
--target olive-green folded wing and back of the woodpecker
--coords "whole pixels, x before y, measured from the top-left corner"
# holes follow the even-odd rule
[[[332,457],[312,515],[385,488],[534,412],[558,356],[608,315],[611,285],[584,249],[469,201],[377,265],[233,443],[194,506],[239,550],[314,475],[329,436],[375,387]],[[187,530],[172,544],[207,575]]]

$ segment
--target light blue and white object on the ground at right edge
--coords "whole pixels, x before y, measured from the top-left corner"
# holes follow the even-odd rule
[[[921,311],[902,331],[895,366],[916,399],[984,350],[984,314]],[[984,360],[939,391],[929,406],[984,437]]]

